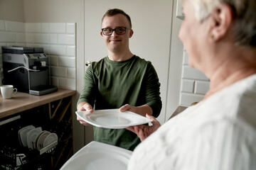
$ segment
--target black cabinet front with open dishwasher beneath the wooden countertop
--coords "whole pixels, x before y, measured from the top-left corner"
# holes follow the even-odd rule
[[[57,170],[73,155],[71,97],[0,120],[0,170]],[[10,121],[9,121],[10,120]],[[18,130],[34,125],[55,132],[58,141],[38,150],[21,146]]]

